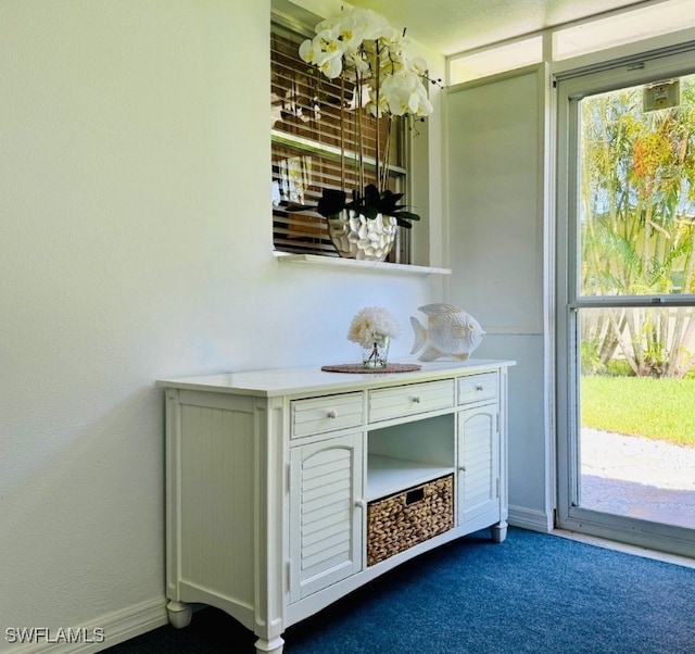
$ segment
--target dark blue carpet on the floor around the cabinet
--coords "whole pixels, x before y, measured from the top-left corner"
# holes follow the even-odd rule
[[[287,654],[695,654],[695,570],[510,529],[430,552],[290,627]],[[216,609],[109,650],[254,652]]]

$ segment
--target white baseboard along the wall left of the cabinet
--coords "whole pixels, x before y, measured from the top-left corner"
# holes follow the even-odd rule
[[[15,640],[9,651],[12,654],[94,654],[167,622],[166,599],[162,595],[106,614],[79,627],[38,630],[31,638],[26,631],[23,634],[13,632],[11,638],[18,639],[23,636],[24,644]],[[7,644],[8,633],[3,637]]]

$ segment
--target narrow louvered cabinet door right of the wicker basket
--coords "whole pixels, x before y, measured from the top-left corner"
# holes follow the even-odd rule
[[[497,404],[458,413],[458,525],[500,519]],[[489,523],[488,523],[489,524]]]

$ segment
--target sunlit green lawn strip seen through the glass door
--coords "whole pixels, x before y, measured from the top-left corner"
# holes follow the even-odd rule
[[[581,422],[603,431],[695,445],[695,379],[583,376]]]

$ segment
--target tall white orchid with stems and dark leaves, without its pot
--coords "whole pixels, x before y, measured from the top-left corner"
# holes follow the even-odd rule
[[[408,39],[405,29],[397,33],[388,21],[368,9],[346,9],[334,18],[327,18],[316,25],[316,36],[306,39],[299,50],[303,61],[316,66],[326,77],[334,79],[345,74],[354,84],[354,98],[343,104],[355,110],[359,135],[358,188],[353,199],[348,200],[343,190],[325,189],[317,211],[329,217],[343,209],[356,211],[374,218],[378,213],[392,215],[399,225],[409,228],[410,221],[419,216],[405,211],[399,204],[403,193],[392,193],[384,189],[388,179],[388,142],[383,148],[384,163],[380,171],[380,143],[376,139],[376,178],[378,186],[365,186],[362,148],[362,110],[379,121],[382,116],[415,116],[422,120],[433,108],[427,93],[427,63],[417,56],[409,59],[406,53]],[[377,129],[377,134],[378,134]],[[344,148],[341,147],[344,171]],[[344,186],[344,173],[343,186]]]

